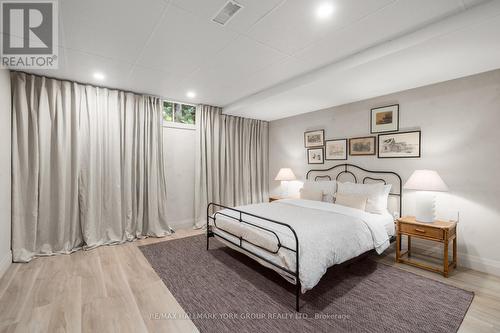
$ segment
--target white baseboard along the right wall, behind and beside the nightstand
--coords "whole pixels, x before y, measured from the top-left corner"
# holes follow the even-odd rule
[[[412,239],[412,249],[416,249],[420,253],[430,254],[432,256],[442,257],[442,247],[441,246],[424,246],[422,241],[418,239]],[[403,247],[405,246],[405,241],[403,241]],[[429,245],[429,243],[425,243]],[[473,269],[475,271],[488,273],[496,276],[500,276],[500,261],[480,258],[467,253],[457,253],[458,256],[458,266]]]

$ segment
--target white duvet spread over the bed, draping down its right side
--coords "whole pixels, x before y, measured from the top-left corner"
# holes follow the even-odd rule
[[[387,216],[354,208],[301,199],[235,208],[286,223],[295,230],[299,240],[299,279],[303,293],[313,288],[329,267],[372,249],[380,254],[390,244],[384,226]],[[222,210],[221,213],[239,218],[239,214],[231,210]],[[295,237],[289,228],[247,215],[243,220],[273,230],[284,246],[295,249]],[[216,233],[221,228],[270,251],[278,250],[276,236],[262,229],[220,214],[216,214],[216,226]],[[276,255],[281,259],[280,264],[295,271],[294,252],[281,248]]]

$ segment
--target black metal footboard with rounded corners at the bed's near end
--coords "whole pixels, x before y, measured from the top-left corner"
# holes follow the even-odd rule
[[[228,215],[228,214],[225,214],[225,213],[221,213],[221,212],[216,212],[213,214],[213,216],[210,214],[210,209],[213,209],[213,208],[222,208],[222,209],[227,209],[227,210],[230,210],[230,211],[233,211],[233,212],[236,212],[238,213],[238,217],[234,217],[234,216],[231,216],[231,215]],[[276,251],[270,251],[258,244],[254,244],[252,242],[250,242],[249,240],[246,240],[245,238],[241,237],[241,236],[237,236],[227,230],[224,230],[223,228],[219,228],[217,227],[217,215],[221,215],[221,216],[225,216],[227,218],[230,218],[230,219],[233,219],[235,221],[238,221],[239,223],[244,223],[244,224],[247,224],[247,225],[250,225],[252,227],[255,227],[255,228],[258,228],[258,229],[261,229],[261,230],[264,230],[264,231],[267,231],[271,234],[273,234],[275,237],[276,237],[276,240],[278,242],[278,248]],[[271,223],[275,223],[275,224],[278,224],[278,225],[281,225],[281,226],[284,226],[284,227],[287,227],[288,229],[290,229],[292,231],[292,234],[294,235],[295,237],[295,249],[291,249],[285,245],[283,245],[283,243],[281,242],[278,234],[273,231],[273,230],[270,230],[270,229],[267,229],[265,227],[262,227],[262,226],[259,226],[259,225],[256,225],[255,223],[251,223],[249,221],[245,221],[244,220],[244,217],[245,216],[249,216],[249,217],[253,217],[253,218],[257,218],[257,219],[260,219],[260,220],[263,220],[263,221],[268,221],[268,222],[271,222]],[[210,225],[210,220],[212,220],[214,222],[214,225],[217,227],[217,229],[220,229],[222,231],[224,231],[225,233],[235,237],[235,238],[238,238],[239,239],[239,242],[238,243],[235,243],[234,241],[222,236],[222,235],[219,235],[219,234],[216,234],[212,231],[212,227]],[[282,270],[283,272],[286,272],[292,276],[295,277],[295,309],[296,311],[299,311],[299,299],[300,299],[300,279],[299,279],[299,238],[297,237],[297,233],[295,232],[295,230],[288,224],[286,223],[283,223],[283,222],[278,222],[278,221],[275,221],[275,220],[272,220],[272,219],[268,219],[268,218],[265,218],[265,217],[262,217],[262,216],[258,216],[258,215],[255,215],[255,214],[251,214],[251,213],[247,213],[247,212],[244,212],[244,211],[241,211],[239,209],[235,209],[235,208],[231,208],[231,207],[226,207],[224,205],[220,205],[220,204],[217,204],[217,203],[214,203],[214,202],[211,202],[208,204],[207,206],[207,250],[209,249],[209,246],[210,246],[210,237],[220,237],[222,239],[224,239],[226,242],[229,242],[231,244],[233,244],[234,246],[237,246],[238,248],[242,249],[244,252],[246,253],[249,253],[263,261],[265,261],[266,263]],[[247,244],[251,244],[252,246],[255,246],[263,251],[267,251],[271,254],[276,254],[278,253],[278,251],[281,249],[281,248],[284,248],[284,249],[287,249],[289,251],[292,251],[292,252],[295,252],[295,271],[292,271],[286,267],[283,267],[283,266],[280,266],[280,265],[277,265],[275,264],[274,262],[262,257],[261,255],[257,254],[257,253],[254,253],[252,251],[250,251],[249,249],[247,248],[244,248],[243,247],[243,243],[247,243]]]

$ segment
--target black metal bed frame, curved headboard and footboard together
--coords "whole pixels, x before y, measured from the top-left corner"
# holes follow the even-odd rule
[[[393,176],[395,176],[397,182],[399,183],[399,186],[398,186],[398,189],[399,189],[399,192],[397,193],[392,193],[392,189],[391,189],[391,193],[389,193],[389,195],[393,195],[393,196],[399,196],[399,211],[401,212],[402,211],[402,196],[403,196],[403,192],[402,192],[402,180],[401,180],[401,177],[395,173],[395,172],[392,172],[392,171],[374,171],[374,170],[368,170],[368,169],[364,169],[362,167],[359,167],[357,165],[354,165],[354,164],[348,164],[348,163],[343,163],[343,164],[337,164],[337,165],[334,165],[332,166],[331,168],[328,168],[328,169],[312,169],[312,170],[309,170],[306,174],[306,179],[309,180],[309,177],[310,177],[310,174],[311,173],[315,173],[315,172],[319,172],[319,173],[326,173],[326,172],[329,172],[329,171],[332,171],[332,170],[335,170],[337,168],[340,168],[340,169],[343,169],[341,171],[339,171],[337,173],[337,176],[335,177],[335,180],[338,180],[339,177],[342,175],[342,174],[349,174],[353,177],[354,179],[354,182],[357,183],[358,182],[358,179],[356,177],[356,175],[349,170],[349,168],[354,168],[354,169],[358,169],[358,170],[361,170],[365,173],[368,173],[368,174],[391,174]],[[318,179],[321,179],[321,178],[327,178],[329,180],[332,180],[331,176],[329,175],[319,175],[319,176],[316,176],[314,178],[315,181],[317,181]],[[374,178],[374,177],[369,177],[369,176],[365,176],[362,180],[362,183],[363,184],[366,184],[366,180],[371,180],[371,181],[375,181],[375,182],[383,182],[384,184],[387,184],[387,181],[383,178]],[[228,214],[225,214],[225,213],[222,213],[220,211],[216,211],[215,213],[213,214],[210,214],[211,213],[211,209],[212,209],[212,212],[217,210],[217,209],[224,209],[224,210],[229,210],[229,211],[232,211],[232,212],[235,212],[237,217],[235,216],[231,216],[231,215],[228,215]],[[220,228],[220,227],[217,227],[217,215],[222,215],[222,216],[225,216],[227,218],[230,218],[230,219],[233,219],[233,220],[236,220],[238,221],[239,223],[244,223],[244,224],[247,224],[247,225],[250,225],[252,227],[255,227],[255,228],[258,228],[258,229],[261,229],[261,230],[264,230],[264,231],[267,231],[271,234],[273,234],[277,241],[278,241],[278,248],[276,249],[276,251],[270,251],[258,244],[255,244],[255,243],[252,243],[246,239],[244,239],[243,237],[241,236],[238,236],[238,235],[235,235],[234,233],[231,233],[227,230],[224,230],[223,228]],[[262,226],[259,226],[259,225],[256,225],[255,223],[251,223],[251,222],[248,222],[248,221],[245,221],[244,220],[244,217],[247,216],[247,217],[253,217],[253,218],[257,218],[259,220],[263,220],[263,221],[268,221],[268,222],[271,222],[271,223],[274,223],[274,224],[278,224],[278,225],[281,225],[281,226],[284,226],[288,229],[291,230],[292,234],[294,235],[295,237],[295,249],[292,249],[290,247],[287,247],[285,245],[283,245],[281,243],[281,240],[278,236],[278,234],[273,231],[273,230],[270,230],[270,229],[267,229],[267,228],[264,228]],[[239,240],[238,243],[235,243],[233,242],[232,240],[228,239],[227,237],[224,237],[220,234],[217,234],[217,233],[214,233],[213,230],[212,230],[212,226],[210,225],[210,221],[213,221],[213,224],[214,226],[219,229],[219,230],[222,230],[224,231],[225,233],[237,238]],[[214,202],[211,202],[208,204],[207,206],[207,251],[209,250],[209,246],[210,246],[210,238],[211,237],[219,237],[219,238],[222,238],[224,239],[226,242],[229,242],[230,244],[238,247],[240,250],[242,250],[243,252],[251,255],[251,256],[255,256],[257,258],[259,258],[260,260],[263,260],[265,261],[266,263],[278,268],[279,270],[283,271],[283,272],[286,272],[290,275],[292,275],[294,278],[295,278],[295,310],[298,312],[299,311],[299,306],[300,306],[300,289],[301,289],[301,286],[300,286],[300,278],[299,278],[299,238],[297,237],[297,233],[295,232],[295,230],[288,224],[286,223],[283,223],[283,222],[279,222],[279,221],[275,221],[275,220],[272,220],[272,219],[268,219],[266,217],[263,217],[263,216],[258,216],[258,215],[255,215],[255,214],[251,214],[251,213],[247,213],[247,212],[244,212],[242,210],[239,210],[239,209],[235,209],[235,208],[231,208],[231,207],[227,207],[227,206],[224,206],[224,205],[221,205],[221,204],[218,204],[218,203],[214,203]],[[278,251],[281,249],[281,248],[284,248],[284,249],[287,249],[291,252],[294,252],[295,253],[295,270],[292,271],[288,268],[285,268],[283,266],[280,266],[280,265],[277,265],[275,263],[273,263],[272,261],[264,258],[263,256],[257,254],[257,253],[254,253],[252,251],[249,251],[248,249],[244,248],[243,247],[243,243],[247,243],[247,244],[250,244],[252,246],[255,246],[261,250],[264,250],[268,253],[271,253],[271,254],[276,254],[278,253]]]

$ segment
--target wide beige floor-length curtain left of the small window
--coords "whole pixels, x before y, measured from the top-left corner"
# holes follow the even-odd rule
[[[158,98],[11,81],[14,261],[171,232]]]

